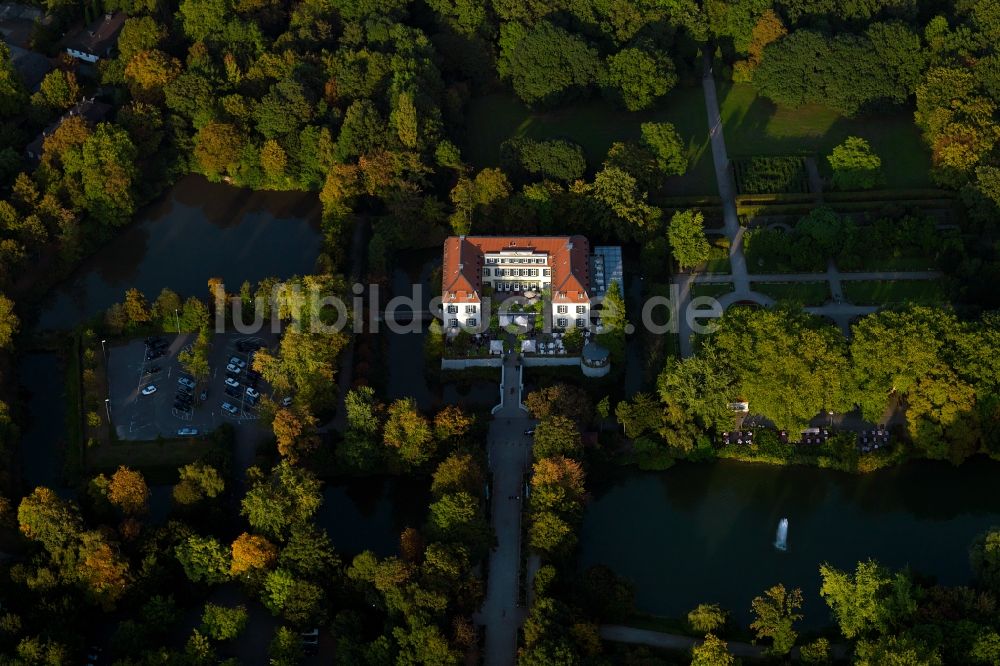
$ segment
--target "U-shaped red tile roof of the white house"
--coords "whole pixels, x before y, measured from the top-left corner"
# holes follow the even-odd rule
[[[444,302],[478,302],[483,255],[501,250],[547,254],[554,303],[590,300],[590,244],[583,236],[451,236],[444,242],[441,269]]]

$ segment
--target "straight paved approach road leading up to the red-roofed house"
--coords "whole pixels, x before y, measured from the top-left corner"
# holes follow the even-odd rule
[[[490,424],[490,469],[493,472],[493,531],[497,545],[490,554],[486,601],[476,622],[486,628],[486,666],[514,666],[517,631],[525,609],[518,604],[521,568],[521,481],[531,464],[531,438],[524,430],[533,422],[521,407],[518,360],[504,362],[501,404]],[[511,393],[513,387],[514,392]],[[519,499],[510,499],[517,497]]]

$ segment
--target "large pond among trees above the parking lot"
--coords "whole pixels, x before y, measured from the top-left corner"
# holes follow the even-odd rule
[[[318,220],[315,194],[253,192],[187,176],[58,287],[38,325],[75,326],[130,287],[152,301],[163,287],[204,296],[211,277],[235,292],[244,280],[308,273],[321,247]]]

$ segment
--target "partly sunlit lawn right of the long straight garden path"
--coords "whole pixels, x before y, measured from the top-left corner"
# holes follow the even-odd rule
[[[826,156],[848,136],[860,136],[882,157],[887,188],[931,186],[930,152],[909,110],[845,118],[818,104],[776,106],[747,84],[721,84],[719,99],[730,157],[815,154],[820,172],[829,176]]]

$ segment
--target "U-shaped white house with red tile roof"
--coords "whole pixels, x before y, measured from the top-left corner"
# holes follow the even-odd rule
[[[478,326],[484,287],[498,297],[546,290],[557,328],[585,326],[589,260],[583,236],[451,236],[441,270],[445,326]]]

